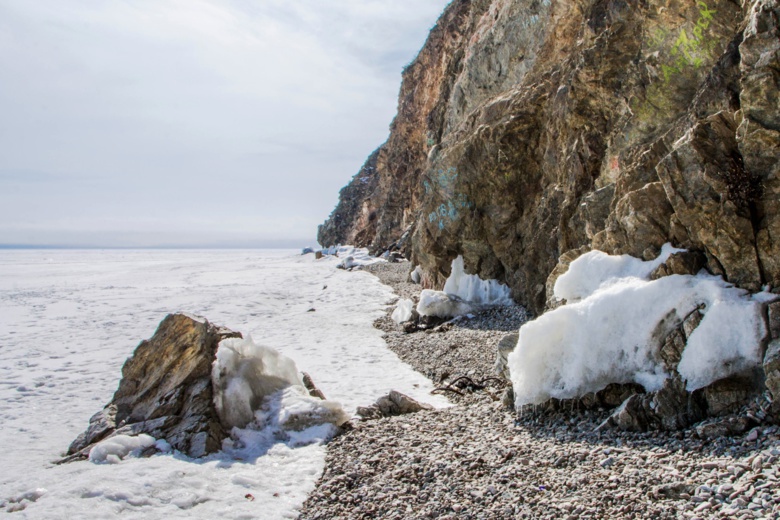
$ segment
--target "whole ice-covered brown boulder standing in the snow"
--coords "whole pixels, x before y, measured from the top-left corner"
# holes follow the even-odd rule
[[[150,438],[158,449],[202,457],[264,406],[280,431],[348,420],[337,403],[309,395],[291,359],[204,318],[171,314],[125,362],[114,398],[62,462],[117,462],[155,444]]]

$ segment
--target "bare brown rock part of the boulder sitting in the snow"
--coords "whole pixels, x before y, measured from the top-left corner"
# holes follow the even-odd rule
[[[148,433],[191,457],[221,449],[226,432],[214,409],[211,367],[219,342],[241,337],[203,318],[170,314],[122,367],[113,399],[68,450],[87,454],[115,434]]]

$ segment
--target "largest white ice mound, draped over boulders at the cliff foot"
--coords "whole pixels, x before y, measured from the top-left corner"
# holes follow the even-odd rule
[[[572,262],[555,284],[555,296],[569,303],[523,325],[509,356],[516,405],[578,397],[610,383],[660,389],[669,376],[660,342],[696,308],[704,318],[678,366],[689,391],[759,364],[761,295],[707,274],[650,281],[674,251],[665,247],[650,262],[592,251]]]

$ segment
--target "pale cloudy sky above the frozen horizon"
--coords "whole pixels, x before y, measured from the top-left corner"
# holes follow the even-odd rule
[[[0,244],[315,244],[447,3],[0,0]]]

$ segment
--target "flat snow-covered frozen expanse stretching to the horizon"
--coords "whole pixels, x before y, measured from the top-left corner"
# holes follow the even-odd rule
[[[296,516],[324,464],[325,447],[311,441],[327,438],[328,425],[283,440],[273,428],[239,430],[223,452],[200,460],[139,459],[123,445],[112,448],[116,464],[51,464],[111,399],[125,359],[174,311],[279,350],[349,414],[390,389],[446,406],[372,327],[390,290],[367,273],[335,269],[338,258],[298,253],[0,252],[0,511],[5,504],[23,507],[19,518]],[[275,394],[257,419],[267,422],[263,413],[275,406],[295,410],[295,397]]]

